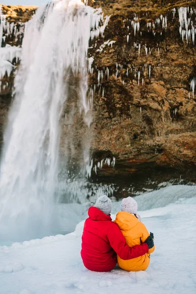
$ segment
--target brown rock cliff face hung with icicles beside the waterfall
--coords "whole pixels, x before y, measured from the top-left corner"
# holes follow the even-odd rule
[[[182,40],[178,11],[189,6],[188,29],[196,28],[195,0],[89,0],[88,4],[111,15],[104,35],[89,45],[89,57],[94,58],[89,89],[94,89],[95,162],[115,156],[113,174],[118,169],[134,173],[147,165],[195,169],[196,96],[191,81],[196,77],[196,41],[186,41],[186,35]],[[26,21],[36,9],[13,7],[4,5],[2,10],[14,22]],[[13,38],[9,42],[14,45]],[[13,77],[0,95],[1,126]],[[111,170],[103,167],[98,174],[105,172]]]

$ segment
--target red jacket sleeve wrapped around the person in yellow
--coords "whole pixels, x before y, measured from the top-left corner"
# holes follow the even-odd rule
[[[115,223],[113,223],[111,230],[108,231],[107,237],[111,247],[123,260],[136,258],[148,252],[148,246],[146,243],[129,247],[125,242],[123,233]]]

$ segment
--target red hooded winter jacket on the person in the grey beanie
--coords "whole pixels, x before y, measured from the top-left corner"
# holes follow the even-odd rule
[[[88,270],[110,271],[117,264],[117,254],[124,260],[148,252],[146,243],[129,247],[118,225],[110,216],[91,206],[84,223],[81,257]]]

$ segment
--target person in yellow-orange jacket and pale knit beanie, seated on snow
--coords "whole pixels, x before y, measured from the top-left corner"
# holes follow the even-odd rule
[[[141,217],[137,213],[138,204],[132,197],[123,198],[121,203],[121,211],[117,213],[115,222],[121,229],[126,244],[129,246],[140,245],[149,236],[146,226],[141,221]],[[153,234],[150,233],[153,238]],[[155,246],[149,249],[148,253],[143,256],[129,260],[123,260],[119,256],[118,265],[123,270],[136,271],[146,270],[150,263],[150,253],[154,251]]]

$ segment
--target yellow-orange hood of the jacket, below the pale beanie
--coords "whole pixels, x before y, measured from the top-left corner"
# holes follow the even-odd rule
[[[120,211],[117,213],[115,222],[122,231],[129,231],[136,226],[139,220],[129,212]]]

